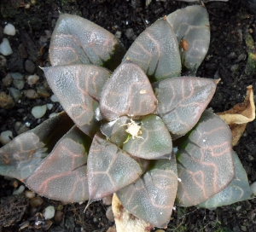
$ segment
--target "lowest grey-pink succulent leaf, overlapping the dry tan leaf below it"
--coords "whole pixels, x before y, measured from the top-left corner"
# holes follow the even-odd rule
[[[170,221],[177,191],[175,157],[151,161],[151,168],[135,183],[116,194],[125,209],[134,216],[165,227]]]

